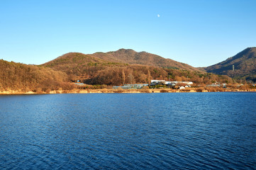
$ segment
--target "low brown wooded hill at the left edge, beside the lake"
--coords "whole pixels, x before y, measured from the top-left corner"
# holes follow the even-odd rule
[[[0,60],[0,91],[69,89],[67,74],[50,68]]]

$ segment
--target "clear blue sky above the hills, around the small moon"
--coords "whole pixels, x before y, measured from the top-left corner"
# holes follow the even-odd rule
[[[0,59],[43,64],[126,48],[205,67],[256,46],[255,8],[255,0],[1,0]]]

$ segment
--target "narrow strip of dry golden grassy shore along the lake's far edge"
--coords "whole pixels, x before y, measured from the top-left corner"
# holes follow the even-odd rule
[[[194,93],[194,92],[232,92],[232,91],[251,91],[255,92],[256,89],[72,89],[72,90],[57,90],[47,92],[33,92],[33,91],[0,91],[0,94],[141,94],[141,93]]]

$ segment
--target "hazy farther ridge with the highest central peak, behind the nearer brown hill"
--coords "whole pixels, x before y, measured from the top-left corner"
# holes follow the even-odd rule
[[[163,67],[169,69],[184,69],[188,71],[199,71],[195,67],[191,67],[189,64],[177,62],[171,59],[165,59],[159,55],[153,55],[148,52],[135,52],[134,50],[120,49],[113,52],[96,52],[94,57],[101,58],[103,60],[111,62],[123,62],[128,64],[143,64],[153,67]]]

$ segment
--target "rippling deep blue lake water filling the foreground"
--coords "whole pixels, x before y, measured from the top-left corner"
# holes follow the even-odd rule
[[[0,96],[0,169],[256,169],[256,93]]]

